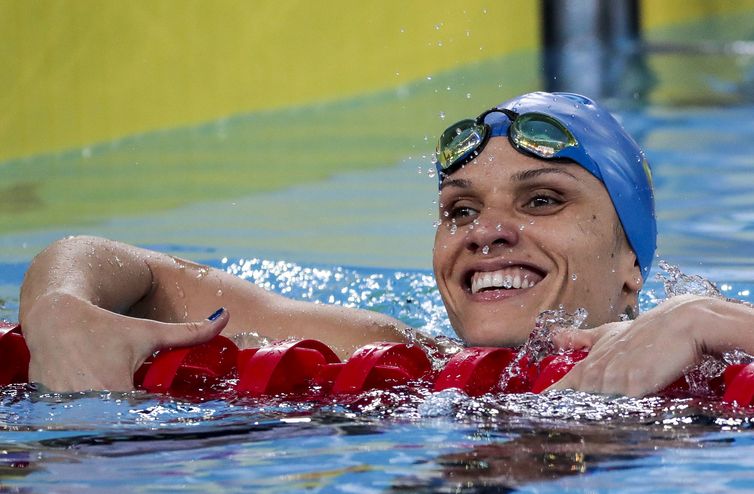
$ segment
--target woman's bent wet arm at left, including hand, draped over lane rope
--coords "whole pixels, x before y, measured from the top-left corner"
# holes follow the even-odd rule
[[[206,319],[218,307],[225,312]],[[317,338],[341,355],[405,340],[390,317],[289,300],[224,271],[96,237],[60,240],[40,253],[19,312],[30,379],[56,391],[132,389],[134,372],[154,351],[221,330]]]

